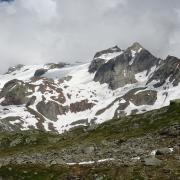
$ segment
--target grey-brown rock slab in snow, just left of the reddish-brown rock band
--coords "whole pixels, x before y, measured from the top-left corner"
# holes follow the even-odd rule
[[[48,103],[41,101],[36,107],[43,116],[52,121],[57,120],[57,115],[65,114],[68,111],[67,107],[61,106],[54,101],[49,101]]]

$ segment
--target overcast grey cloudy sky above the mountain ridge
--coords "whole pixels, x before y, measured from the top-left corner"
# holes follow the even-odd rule
[[[87,62],[135,41],[158,57],[180,57],[180,0],[0,3],[0,72],[18,63]]]

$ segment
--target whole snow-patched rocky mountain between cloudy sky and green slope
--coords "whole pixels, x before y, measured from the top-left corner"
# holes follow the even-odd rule
[[[0,129],[64,132],[143,113],[180,98],[180,60],[139,43],[97,52],[87,64],[18,65],[0,75]]]

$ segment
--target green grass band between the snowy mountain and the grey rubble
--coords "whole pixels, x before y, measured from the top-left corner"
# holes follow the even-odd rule
[[[180,123],[180,108],[176,105],[132,115],[121,119],[114,119],[99,125],[97,128],[77,127],[62,135],[45,133],[43,131],[21,131],[0,133],[0,156],[12,151],[37,152],[41,150],[61,149],[79,144],[101,143],[102,140],[122,140],[140,137],[147,133],[158,131],[173,123]],[[20,143],[10,147],[13,140],[20,138]],[[30,140],[29,140],[30,139]],[[3,142],[3,143],[2,143]]]

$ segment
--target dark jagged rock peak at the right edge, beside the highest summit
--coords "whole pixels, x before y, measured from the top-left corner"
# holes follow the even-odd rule
[[[154,85],[154,87],[160,87],[168,78],[169,82],[172,82],[174,86],[177,86],[180,82],[180,59],[173,56],[168,56],[166,60],[162,62],[160,67],[149,79],[148,83],[155,80],[158,82]]]

